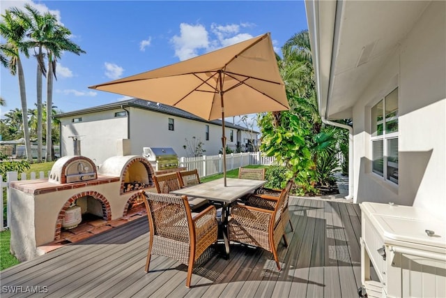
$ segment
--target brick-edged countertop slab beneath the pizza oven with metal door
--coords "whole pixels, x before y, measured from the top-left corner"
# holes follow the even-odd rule
[[[52,193],[54,191],[65,191],[72,188],[82,188],[85,186],[93,186],[99,184],[109,184],[120,181],[120,177],[105,176],[98,174],[98,179],[73,182],[70,184],[54,184],[48,182],[48,179],[20,180],[12,181],[9,186],[24,193],[32,195],[41,195],[43,193]]]

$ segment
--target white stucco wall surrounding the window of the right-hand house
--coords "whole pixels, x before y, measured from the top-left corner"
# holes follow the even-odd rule
[[[446,2],[433,1],[353,107],[354,197],[446,214]],[[399,87],[399,186],[371,173],[370,109]]]

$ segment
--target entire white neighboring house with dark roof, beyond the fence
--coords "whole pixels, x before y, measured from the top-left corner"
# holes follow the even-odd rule
[[[128,139],[125,142],[132,155],[142,155],[143,147],[171,147],[178,156],[188,156],[183,146],[192,144],[192,137],[203,142],[204,155],[215,155],[222,149],[222,121],[206,121],[148,100],[133,98],[58,114],[56,118],[61,121],[61,155],[74,154],[73,136],[77,136],[80,153],[96,165],[122,154],[123,142],[118,140],[123,139]],[[240,146],[244,151],[250,138],[248,129],[227,121],[225,126],[228,147],[236,151]]]

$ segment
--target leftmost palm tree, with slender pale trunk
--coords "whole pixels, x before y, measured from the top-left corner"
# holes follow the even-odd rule
[[[22,60],[20,59],[20,53],[22,52],[25,57],[29,57],[28,48],[24,44],[24,38],[26,37],[26,24],[20,22],[20,15],[22,11],[13,8],[12,10],[6,10],[3,17],[3,21],[0,22],[0,34],[6,40],[6,44],[1,46],[2,53],[10,60],[8,62],[8,68],[12,75],[16,75],[19,80],[20,88],[20,101],[22,103],[22,116],[23,116],[23,129],[25,137],[26,157],[28,161],[32,163],[31,154],[31,142],[29,140],[29,127],[28,127],[28,110],[26,107],[26,88],[25,78],[23,73]]]

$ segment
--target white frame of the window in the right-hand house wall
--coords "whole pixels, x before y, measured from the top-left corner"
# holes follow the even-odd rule
[[[397,91],[397,112],[396,115],[394,116],[390,116],[387,117],[387,111],[386,111],[386,100],[387,98],[394,92]],[[374,108],[378,107],[378,105],[381,105],[381,110],[382,110],[382,119],[374,122]],[[394,111],[392,111],[394,112]],[[392,112],[390,112],[389,114],[392,114]],[[399,180],[395,179],[394,177],[392,177],[389,173],[389,167],[394,167],[394,166],[390,166],[390,163],[393,163],[394,165],[396,164],[397,167],[394,167],[397,169],[399,168],[399,126],[397,128],[397,131],[393,131],[391,133],[387,133],[387,123],[389,123],[390,121],[397,121],[397,124],[399,125],[399,87],[394,87],[393,89],[391,89],[390,92],[388,92],[387,94],[385,94],[385,96],[382,96],[379,98],[378,102],[373,105],[370,109],[370,117],[371,117],[371,137],[370,137],[370,152],[371,152],[371,170],[370,172],[374,175],[376,175],[376,177],[379,177],[380,179],[385,180],[386,182],[390,182],[393,185],[399,186]],[[382,125],[382,133],[380,133],[380,131],[378,130],[378,126]],[[389,161],[390,158],[390,145],[389,145],[389,141],[390,140],[397,140],[397,163],[394,163],[392,161]],[[374,161],[375,161],[375,153],[376,151],[374,151],[374,144],[377,144],[377,142],[382,142],[382,156],[383,156],[383,172],[378,172],[377,170],[374,170]]]

